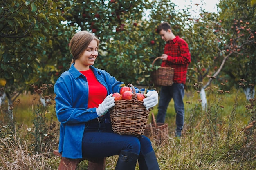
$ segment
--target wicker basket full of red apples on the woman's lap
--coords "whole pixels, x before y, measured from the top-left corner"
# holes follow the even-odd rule
[[[120,135],[143,135],[148,122],[150,109],[146,110],[142,101],[137,99],[132,84],[133,96],[131,100],[117,100],[115,106],[110,108],[112,129]]]

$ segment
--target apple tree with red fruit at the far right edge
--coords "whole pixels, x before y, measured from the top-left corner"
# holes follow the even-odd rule
[[[243,90],[249,100],[254,98],[256,83],[256,4],[251,5],[250,0],[225,0],[219,7],[220,49],[223,55],[230,55],[222,77],[229,84],[244,79]]]

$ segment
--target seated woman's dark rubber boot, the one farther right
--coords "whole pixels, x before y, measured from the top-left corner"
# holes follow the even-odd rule
[[[139,170],[160,170],[154,150],[146,155],[139,155],[138,161]]]

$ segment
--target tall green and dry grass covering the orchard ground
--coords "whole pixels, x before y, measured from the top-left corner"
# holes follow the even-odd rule
[[[240,88],[222,92],[217,87],[206,89],[206,110],[197,89],[186,92],[182,137],[174,135],[175,110],[170,102],[168,138],[161,144],[152,139],[161,170],[256,168],[256,99],[246,101]],[[6,107],[0,110],[4,117],[0,119],[0,170],[57,169],[60,158],[52,154],[58,149],[59,133],[54,103],[43,107],[38,94],[21,95],[11,110],[15,122],[6,117]],[[157,115],[157,106],[152,113]],[[115,169],[117,158],[106,158],[107,170]],[[87,161],[79,163],[79,170],[86,168]]]

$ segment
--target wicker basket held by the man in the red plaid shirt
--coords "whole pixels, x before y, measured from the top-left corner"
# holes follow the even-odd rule
[[[156,57],[152,63],[152,67],[157,59]],[[171,86],[173,85],[174,68],[171,67],[160,67],[155,71],[152,71],[151,77],[155,86]]]

